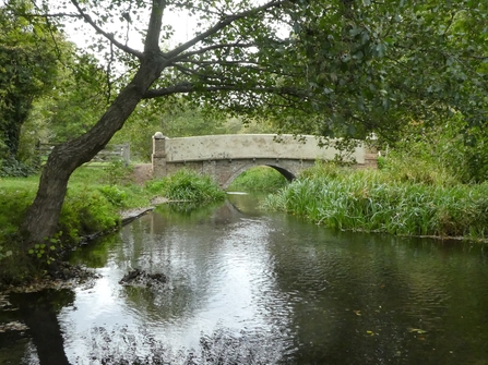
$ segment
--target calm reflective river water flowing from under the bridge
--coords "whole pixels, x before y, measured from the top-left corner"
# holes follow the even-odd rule
[[[50,349],[43,365],[488,364],[488,247],[332,232],[229,199],[162,207],[76,252],[102,278],[12,299],[45,336],[0,333],[0,363]],[[132,268],[168,283],[120,285]]]

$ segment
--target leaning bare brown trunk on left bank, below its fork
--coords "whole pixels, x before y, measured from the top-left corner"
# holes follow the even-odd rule
[[[159,76],[163,60],[158,54],[148,56],[142,61],[131,83],[120,92],[100,120],[88,132],[57,146],[50,154],[37,195],[22,226],[26,247],[55,235],[70,175],[105,147],[122,127],[143,94]]]

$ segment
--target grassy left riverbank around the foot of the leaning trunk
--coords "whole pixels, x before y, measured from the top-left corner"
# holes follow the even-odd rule
[[[81,236],[117,229],[122,210],[148,207],[155,196],[197,204],[225,198],[225,193],[210,178],[186,170],[140,186],[132,183],[130,168],[82,167],[70,179],[58,233],[25,252],[20,226],[37,185],[38,177],[0,180],[0,283],[19,283],[41,276]]]

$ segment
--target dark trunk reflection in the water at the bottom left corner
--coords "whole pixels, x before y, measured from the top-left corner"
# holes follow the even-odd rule
[[[69,364],[58,323],[59,311],[73,303],[70,290],[45,290],[38,293],[11,294],[20,319],[29,328],[40,365]]]

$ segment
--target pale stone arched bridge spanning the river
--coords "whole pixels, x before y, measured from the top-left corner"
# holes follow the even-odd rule
[[[338,150],[321,148],[313,136],[298,141],[291,135],[228,134],[186,138],[168,138],[160,132],[153,136],[153,177],[172,174],[188,168],[215,178],[226,188],[243,171],[269,166],[293,180],[316,160],[334,159]],[[356,147],[350,160],[356,166],[376,167],[377,155],[366,147]]]

